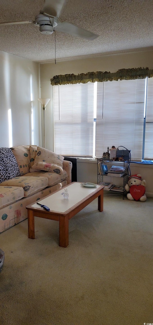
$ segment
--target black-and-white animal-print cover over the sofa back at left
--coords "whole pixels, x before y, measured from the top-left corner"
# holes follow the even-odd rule
[[[0,183],[20,175],[20,170],[12,150],[0,148]]]

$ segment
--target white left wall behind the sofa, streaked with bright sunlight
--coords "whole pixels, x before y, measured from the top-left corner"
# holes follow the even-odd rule
[[[41,146],[38,98],[39,64],[0,51],[0,147]]]

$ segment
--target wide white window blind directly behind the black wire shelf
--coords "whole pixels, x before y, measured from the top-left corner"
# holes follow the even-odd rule
[[[96,157],[124,146],[142,159],[144,99],[145,79],[97,83]]]

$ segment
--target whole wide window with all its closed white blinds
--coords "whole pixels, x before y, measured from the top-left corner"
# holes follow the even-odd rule
[[[102,157],[115,145],[153,159],[153,78],[53,88],[56,153]]]

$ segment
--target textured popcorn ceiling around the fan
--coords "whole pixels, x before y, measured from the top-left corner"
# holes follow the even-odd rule
[[[0,22],[34,20],[43,4],[43,0],[0,0]],[[88,41],[56,31],[56,59],[150,49],[152,16],[152,0],[67,0],[59,20],[99,37]],[[33,24],[0,26],[0,50],[36,62],[52,62],[55,35],[43,35]]]

